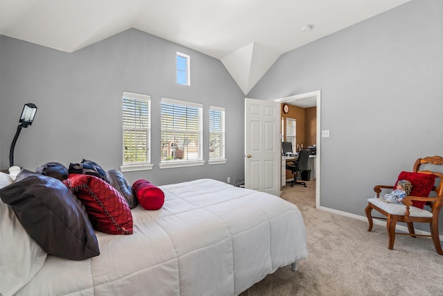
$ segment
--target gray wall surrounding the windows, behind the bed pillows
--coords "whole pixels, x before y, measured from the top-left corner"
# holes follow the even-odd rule
[[[191,86],[175,82],[175,53],[190,55]],[[244,175],[244,94],[221,62],[179,44],[130,29],[74,53],[0,35],[0,165],[24,103],[38,107],[23,129],[15,164],[35,170],[46,162],[91,159],[105,170],[122,164],[122,93],[152,98],[152,171],[125,173],[129,182],[169,184],[201,177],[231,183]],[[159,169],[161,97],[204,105],[204,159],[208,159],[208,107],[226,107],[227,164]]]

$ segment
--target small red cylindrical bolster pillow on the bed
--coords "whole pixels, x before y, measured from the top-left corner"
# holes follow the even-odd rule
[[[160,209],[165,202],[165,193],[147,180],[137,180],[132,184],[138,203],[143,209]]]

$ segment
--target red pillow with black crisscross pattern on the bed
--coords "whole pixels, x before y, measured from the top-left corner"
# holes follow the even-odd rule
[[[81,174],[69,174],[63,183],[84,204],[94,229],[106,234],[132,234],[129,205],[111,184]]]

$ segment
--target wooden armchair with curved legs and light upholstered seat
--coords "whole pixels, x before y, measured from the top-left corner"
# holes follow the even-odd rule
[[[413,172],[415,173],[424,173],[424,174],[433,174],[437,177],[435,178],[435,184],[437,186],[433,186],[431,191],[435,192],[435,197],[419,197],[419,196],[406,196],[403,199],[403,204],[392,204],[383,201],[380,198],[380,193],[382,189],[394,189],[394,186],[384,186],[384,185],[376,185],[374,186],[374,191],[377,193],[376,198],[368,199],[368,207],[365,209],[366,216],[368,217],[369,227],[368,232],[372,230],[372,218],[387,220],[386,229],[388,231],[388,249],[392,250],[394,248],[394,241],[396,234],[406,234],[409,236],[428,236],[432,238],[434,243],[435,250],[438,254],[443,255],[442,245],[440,244],[440,237],[438,232],[438,217],[440,215],[440,209],[443,205],[443,174],[433,171],[419,171],[420,166],[422,164],[433,164],[433,165],[442,165],[443,170],[443,157],[434,156],[434,157],[424,157],[419,158],[414,164]],[[413,185],[414,191],[414,185]],[[412,193],[411,193],[412,194]],[[430,194],[433,195],[433,194]],[[417,207],[413,207],[413,201],[422,201],[426,202],[426,204],[431,207],[431,211],[425,209],[419,209]],[[383,217],[375,217],[371,216],[372,209],[378,211]],[[409,233],[403,232],[395,232],[395,226],[397,225],[397,221],[404,222],[408,225]],[[429,223],[431,227],[431,235],[426,234],[415,234],[413,223]]]

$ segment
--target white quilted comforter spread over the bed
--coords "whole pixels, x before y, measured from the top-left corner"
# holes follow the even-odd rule
[[[48,256],[17,295],[238,295],[307,256],[298,208],[215,180],[161,186],[159,211],[132,210],[134,234],[97,232],[100,256]]]

